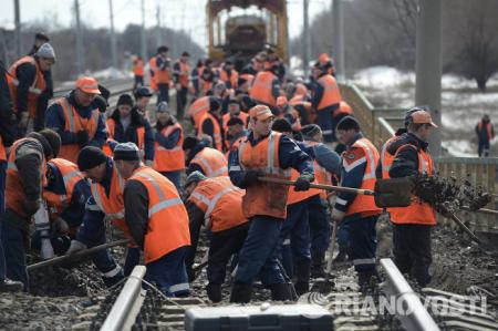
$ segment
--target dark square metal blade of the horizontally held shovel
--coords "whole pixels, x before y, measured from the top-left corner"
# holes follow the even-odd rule
[[[413,179],[409,177],[377,179],[375,205],[381,208],[407,207],[412,204]]]

